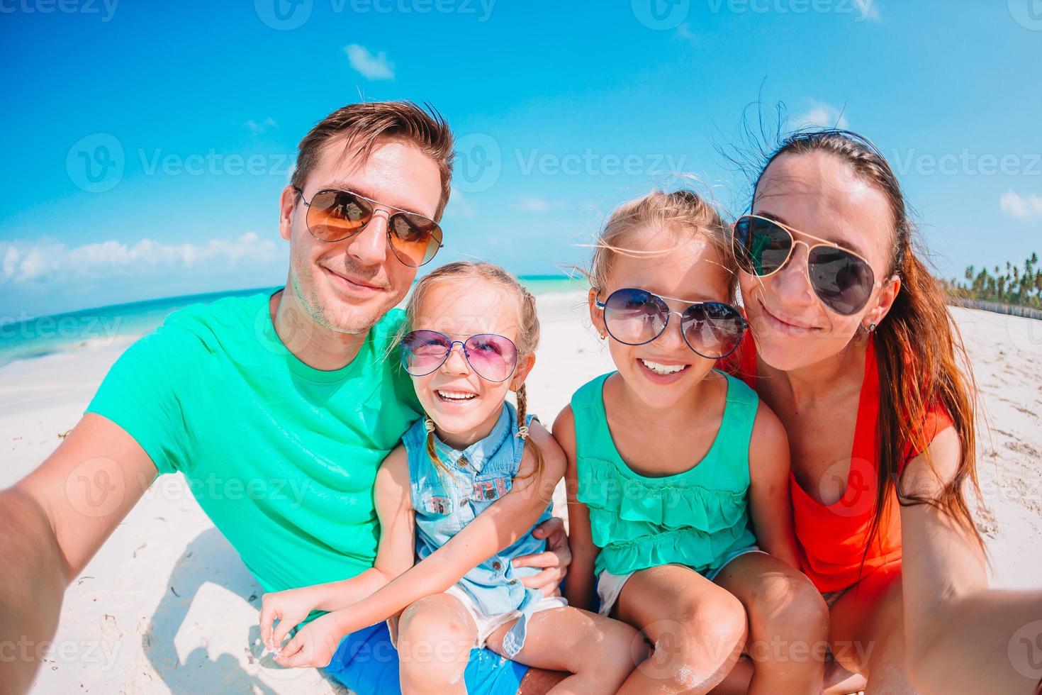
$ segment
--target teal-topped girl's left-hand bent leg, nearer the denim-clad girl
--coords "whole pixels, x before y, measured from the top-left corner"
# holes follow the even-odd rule
[[[679,565],[634,574],[615,614],[654,645],[620,693],[708,693],[734,667],[747,635],[742,603]]]

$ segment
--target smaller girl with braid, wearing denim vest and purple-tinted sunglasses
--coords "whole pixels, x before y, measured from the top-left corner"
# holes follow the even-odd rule
[[[377,473],[375,566],[283,592],[332,612],[301,628],[280,661],[321,652],[321,662],[344,635],[391,619],[404,693],[466,692],[464,670],[479,647],[571,673],[553,692],[616,692],[631,651],[643,657],[637,631],[526,588],[538,570],[513,565],[545,550],[532,529],[549,518],[565,470],[552,436],[526,413],[535,299],[496,266],[454,263],[419,281],[406,314],[401,359],[426,416]]]

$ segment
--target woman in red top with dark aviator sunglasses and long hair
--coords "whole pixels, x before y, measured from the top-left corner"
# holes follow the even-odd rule
[[[912,237],[866,140],[786,140],[735,225],[751,340],[733,368],[789,433],[800,563],[829,605],[836,661],[869,692],[1029,693],[1009,645],[1042,618],[1042,596],[986,591],[964,496],[976,489],[973,386]]]

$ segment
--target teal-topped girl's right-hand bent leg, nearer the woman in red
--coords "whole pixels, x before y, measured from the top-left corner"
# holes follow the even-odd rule
[[[749,618],[743,651],[752,673],[745,692],[820,693],[828,607],[807,575],[773,555],[748,552],[727,563],[716,584],[742,602]]]

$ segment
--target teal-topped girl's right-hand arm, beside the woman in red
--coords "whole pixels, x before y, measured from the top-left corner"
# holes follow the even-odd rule
[[[749,510],[760,546],[799,569],[789,496],[789,438],[763,401],[749,440]]]

